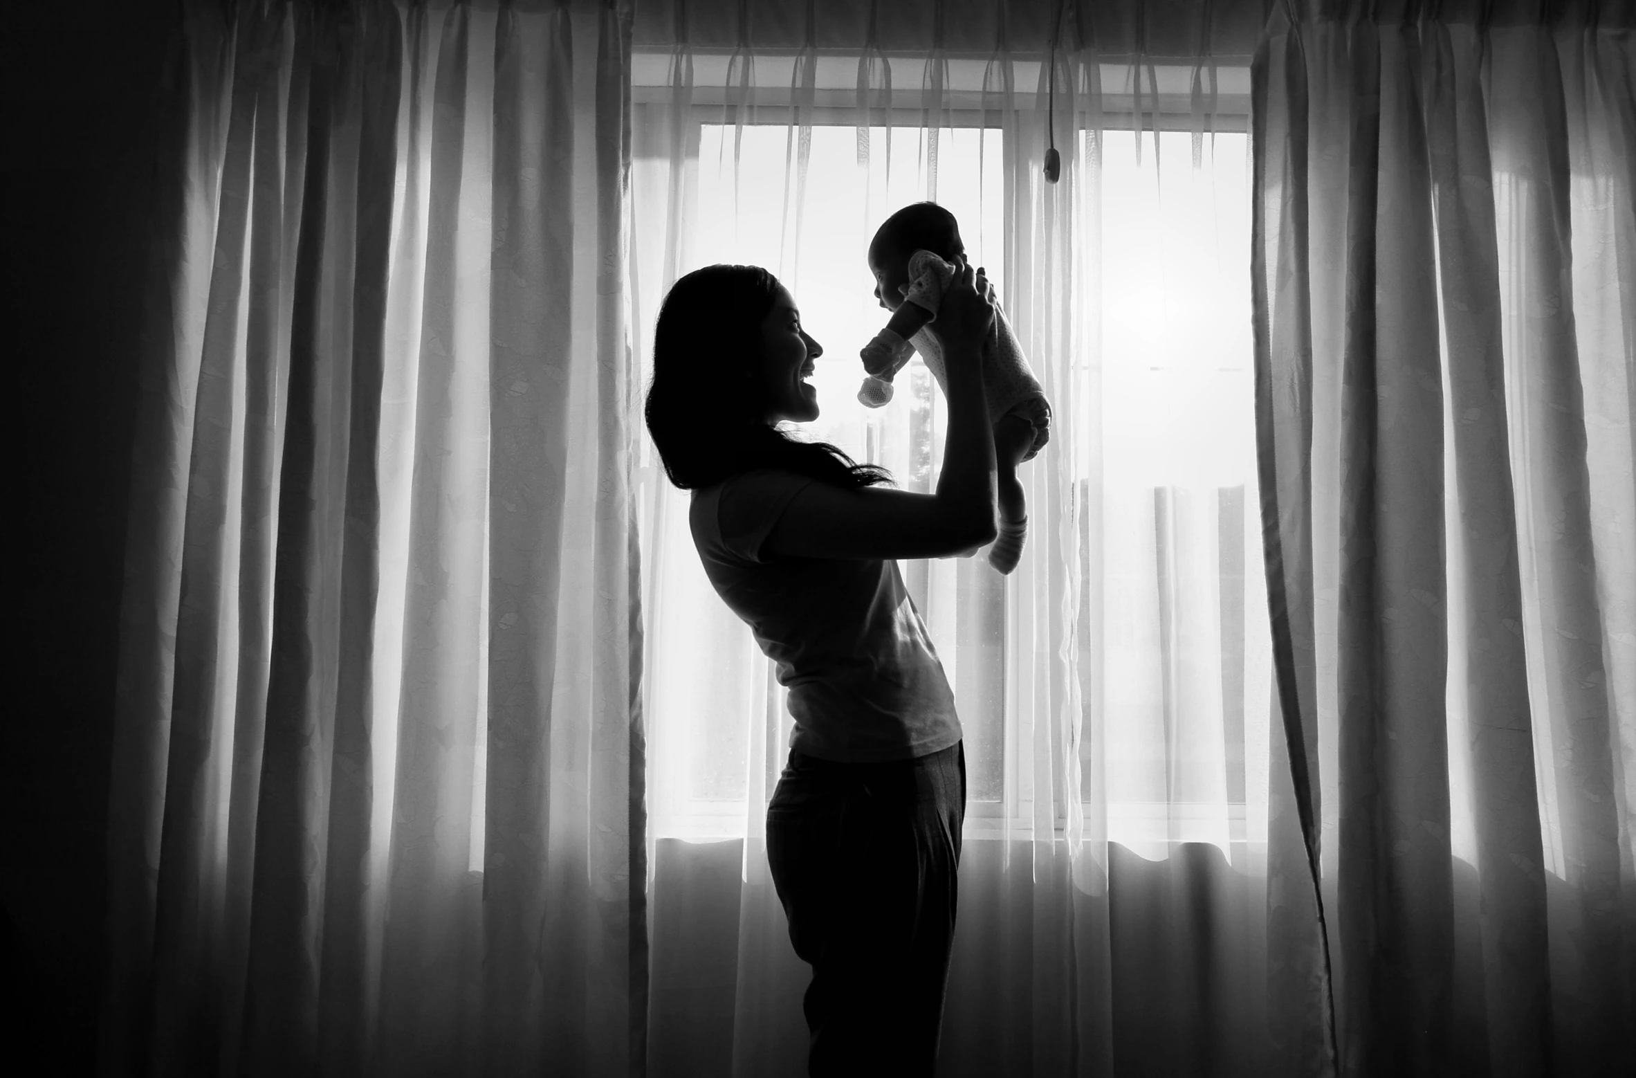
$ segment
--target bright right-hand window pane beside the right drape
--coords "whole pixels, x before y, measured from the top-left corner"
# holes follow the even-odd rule
[[[1189,133],[1086,137],[1101,160],[1091,301],[1103,330],[1106,591],[1104,759],[1081,754],[1083,790],[1094,797],[1091,779],[1104,777],[1112,841],[1225,847],[1227,806],[1245,800],[1245,723],[1266,721],[1245,710],[1260,692],[1248,680],[1266,677],[1247,671],[1245,638],[1247,617],[1265,610],[1247,591],[1261,587],[1258,566],[1245,561],[1261,555],[1248,139],[1206,137],[1194,164]]]

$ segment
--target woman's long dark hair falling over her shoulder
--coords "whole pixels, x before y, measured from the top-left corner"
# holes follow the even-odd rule
[[[710,265],[671,286],[653,327],[648,433],[684,491],[756,468],[782,468],[843,487],[888,483],[828,442],[797,442],[766,422],[761,326],[779,278],[754,265]]]

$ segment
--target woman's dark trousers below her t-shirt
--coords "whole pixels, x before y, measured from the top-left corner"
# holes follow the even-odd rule
[[[808,1073],[933,1073],[954,942],[965,749],[885,764],[790,752],[767,862],[807,988]]]

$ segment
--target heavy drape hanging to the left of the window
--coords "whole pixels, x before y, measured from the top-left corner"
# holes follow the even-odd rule
[[[628,47],[625,3],[187,5],[105,1073],[641,1071]]]

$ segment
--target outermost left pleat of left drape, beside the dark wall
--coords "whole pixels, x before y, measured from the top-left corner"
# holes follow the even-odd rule
[[[200,381],[219,173],[214,149],[229,118],[231,38],[214,13],[195,28],[213,49],[173,43],[165,65],[167,142],[159,147],[160,211],[147,275],[149,324],[142,340],[141,402],[133,445],[133,489],[119,615],[119,666],[108,797],[108,978],[98,1067],[144,1057],[154,1008],[157,869],[175,698],[175,633],[187,519],[187,473]]]

